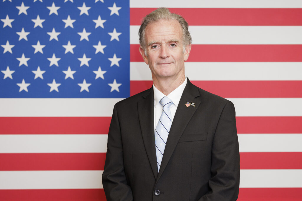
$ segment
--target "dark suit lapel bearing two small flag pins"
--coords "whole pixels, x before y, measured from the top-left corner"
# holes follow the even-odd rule
[[[185,130],[185,127],[187,126],[188,122],[190,121],[190,119],[194,115],[194,112],[200,104],[200,101],[198,99],[195,99],[198,96],[200,96],[198,88],[188,80],[185,90],[182,93],[181,99],[178,103],[178,107],[176,109],[176,113],[170,128],[169,137],[165,146],[165,152],[162,157],[162,163],[159,169],[157,180],[162,175],[162,172],[165,170],[178,143],[179,138],[181,137],[182,133]],[[189,106],[187,108],[185,104],[191,101],[195,103],[195,107]]]

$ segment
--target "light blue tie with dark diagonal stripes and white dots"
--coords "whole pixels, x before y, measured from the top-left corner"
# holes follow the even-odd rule
[[[162,115],[159,118],[155,129],[155,149],[157,158],[157,170],[159,171],[160,164],[162,163],[162,156],[164,154],[166,142],[172,124],[170,106],[173,102],[166,96],[160,99],[162,104]]]

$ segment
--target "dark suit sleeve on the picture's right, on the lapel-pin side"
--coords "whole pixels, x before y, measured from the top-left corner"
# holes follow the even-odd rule
[[[224,106],[214,134],[209,187],[211,192],[200,201],[233,201],[239,193],[239,145],[235,108],[228,101]]]

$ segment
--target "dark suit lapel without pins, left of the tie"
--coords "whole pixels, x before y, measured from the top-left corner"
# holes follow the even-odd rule
[[[157,171],[157,159],[155,151],[155,139],[154,139],[154,97],[153,87],[149,90],[144,99],[138,102],[138,117],[140,121],[140,128],[143,136],[143,142],[148,155],[148,159],[156,179]]]

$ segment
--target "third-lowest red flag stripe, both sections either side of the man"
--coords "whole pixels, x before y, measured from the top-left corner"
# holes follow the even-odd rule
[[[57,118],[57,119],[56,119]],[[70,119],[69,119],[70,118]],[[40,117],[39,122],[48,124],[43,129],[36,125],[37,117],[1,117],[1,134],[107,134],[110,117],[77,117],[80,125],[72,121],[74,117]],[[82,119],[82,121],[80,121]],[[94,118],[93,118],[94,119]],[[58,123],[64,121],[64,123]],[[85,122],[86,123],[82,123]],[[238,133],[302,133],[302,117],[236,117]],[[52,126],[59,124],[58,126]],[[12,125],[18,125],[12,126]],[[89,126],[87,126],[89,125]],[[76,128],[74,127],[76,126]]]

